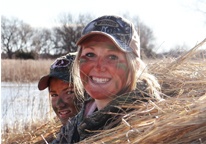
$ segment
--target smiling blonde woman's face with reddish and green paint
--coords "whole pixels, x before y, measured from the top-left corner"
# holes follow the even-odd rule
[[[120,92],[127,80],[125,54],[103,35],[83,42],[80,76],[85,90],[94,99],[106,99]]]

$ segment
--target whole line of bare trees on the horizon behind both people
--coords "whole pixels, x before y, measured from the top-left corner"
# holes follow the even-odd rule
[[[141,57],[153,58],[155,37],[151,28],[138,16],[124,17],[131,20],[140,35]],[[61,14],[51,28],[34,28],[17,18],[1,16],[1,56],[8,59],[57,58],[77,51],[76,42],[85,25],[93,20],[91,14]]]

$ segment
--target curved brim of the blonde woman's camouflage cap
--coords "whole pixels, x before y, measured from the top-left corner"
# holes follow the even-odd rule
[[[111,36],[111,35],[109,35],[107,33],[104,33],[104,32],[100,32],[100,31],[92,31],[92,32],[84,35],[83,37],[81,37],[77,41],[76,46],[80,45],[86,38],[88,38],[88,37],[90,37],[92,35],[95,35],[95,34],[100,34],[100,35],[104,35],[104,36],[108,37],[123,52],[133,52],[133,50],[130,47],[128,47],[127,45],[123,44],[123,42],[121,42],[120,40],[117,40],[113,36]]]

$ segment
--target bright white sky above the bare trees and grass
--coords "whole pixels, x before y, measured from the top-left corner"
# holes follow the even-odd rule
[[[54,25],[61,13],[73,15],[105,14],[140,20],[153,30],[157,53],[168,52],[176,46],[188,49],[206,38],[206,17],[195,11],[197,0],[1,0],[1,15],[16,17],[33,27]],[[204,5],[206,9],[206,4]],[[204,9],[204,8],[203,8]],[[206,49],[206,46],[203,47]]]

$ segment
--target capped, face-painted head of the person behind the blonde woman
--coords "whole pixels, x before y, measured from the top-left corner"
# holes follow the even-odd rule
[[[62,56],[50,67],[50,73],[39,80],[39,90],[48,87],[54,112],[65,125],[80,110],[81,103],[74,94],[71,69],[75,55]]]

